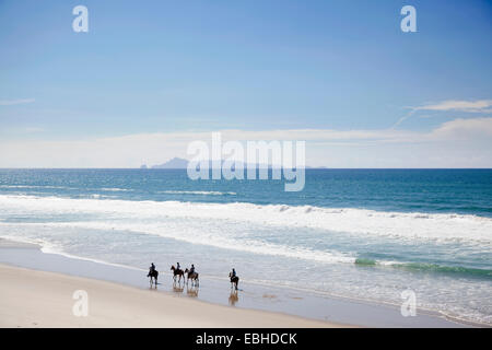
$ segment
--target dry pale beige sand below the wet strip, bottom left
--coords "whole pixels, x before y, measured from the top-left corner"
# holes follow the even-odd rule
[[[345,327],[7,265],[0,281],[0,327]],[[89,294],[86,317],[72,313],[77,290]]]

